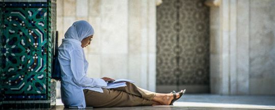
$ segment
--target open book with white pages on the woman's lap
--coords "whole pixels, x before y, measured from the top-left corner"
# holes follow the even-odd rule
[[[113,82],[108,82],[106,89],[125,87],[125,86],[127,86],[125,81],[134,83],[134,81],[129,80],[129,79],[117,79]]]

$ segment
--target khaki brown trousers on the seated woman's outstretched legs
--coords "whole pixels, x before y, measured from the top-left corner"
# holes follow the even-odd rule
[[[126,82],[126,87],[103,89],[103,93],[83,90],[86,106],[116,107],[116,106],[142,106],[152,105],[156,93],[136,87],[131,82]]]

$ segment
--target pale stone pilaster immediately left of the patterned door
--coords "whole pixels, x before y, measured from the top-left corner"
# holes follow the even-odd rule
[[[131,0],[128,7],[128,77],[142,88],[155,91],[155,1]]]

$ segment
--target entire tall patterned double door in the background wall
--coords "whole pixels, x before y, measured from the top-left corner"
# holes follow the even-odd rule
[[[202,0],[157,7],[157,85],[209,85],[209,8]]]

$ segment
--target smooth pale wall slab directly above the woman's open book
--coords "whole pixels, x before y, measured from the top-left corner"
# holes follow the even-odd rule
[[[100,5],[101,77],[128,77],[128,1],[102,0]]]

